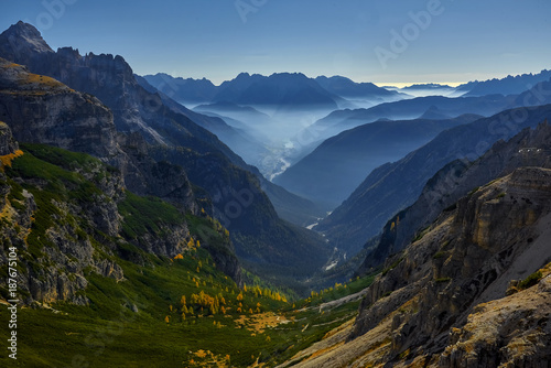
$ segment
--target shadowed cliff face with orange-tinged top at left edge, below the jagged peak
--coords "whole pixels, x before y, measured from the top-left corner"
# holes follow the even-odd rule
[[[106,160],[120,154],[112,115],[97,98],[29,73],[0,58],[0,117],[15,139],[87,152]]]

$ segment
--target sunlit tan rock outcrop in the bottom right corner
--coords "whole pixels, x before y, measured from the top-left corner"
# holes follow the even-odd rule
[[[551,366],[551,264],[540,281],[519,293],[477,305],[462,328],[451,332],[437,366]]]

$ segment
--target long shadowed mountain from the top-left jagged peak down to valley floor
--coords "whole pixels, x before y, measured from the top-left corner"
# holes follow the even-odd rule
[[[162,162],[183,169],[202,188],[196,192],[204,209],[229,229],[236,252],[250,269],[272,275],[294,274],[295,282],[299,275],[311,274],[327,261],[331,250],[326,242],[281,220],[261,191],[258,176],[248,171],[250,166],[216,136],[141,87],[122,57],[82,56],[68,47],[53,52],[44,44],[32,25],[20,22],[0,35],[0,56],[8,55],[31,72],[96,96],[112,112],[116,129],[122,134],[121,149],[132,158],[134,167],[140,169],[145,160],[151,169]],[[160,195],[162,186],[143,180],[149,174],[123,173],[129,190]],[[177,198],[174,201],[179,205]],[[273,268],[259,266],[266,263]]]

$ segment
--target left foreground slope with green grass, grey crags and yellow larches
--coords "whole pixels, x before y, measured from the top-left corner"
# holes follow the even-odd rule
[[[116,169],[87,154],[18,147],[3,122],[0,243],[0,304],[19,318],[10,354],[28,366],[193,367],[208,349],[209,362],[248,367],[302,328],[272,332],[290,323],[274,313],[289,307],[285,295],[252,283],[247,291],[219,223],[132,194]],[[234,273],[222,273],[231,260]],[[269,324],[251,334],[257,321]],[[15,340],[8,328],[0,336]],[[165,343],[144,348],[159,336]]]

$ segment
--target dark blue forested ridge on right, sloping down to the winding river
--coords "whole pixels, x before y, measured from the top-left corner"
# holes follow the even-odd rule
[[[338,240],[337,247],[357,252],[388,219],[412,205],[444,165],[456,159],[474,161],[499,139],[508,140],[550,116],[549,105],[517,108],[443,131],[400,161],[374,170],[316,229]]]

